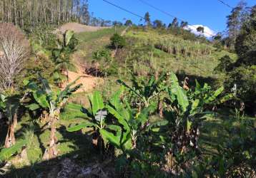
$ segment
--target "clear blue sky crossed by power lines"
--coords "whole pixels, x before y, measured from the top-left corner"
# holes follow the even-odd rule
[[[164,23],[172,22],[172,18],[151,7],[142,4],[138,0],[108,0],[113,4],[128,9],[140,16],[144,16],[149,11],[151,19],[160,19]],[[200,24],[212,28],[214,31],[223,31],[226,28],[226,16],[230,14],[231,9],[221,4],[217,0],[144,0],[149,4],[156,6],[169,14],[184,19],[189,24]],[[236,6],[240,0],[222,0],[230,6]],[[247,0],[249,6],[256,4],[256,0]],[[89,0],[89,11],[94,12],[94,16],[107,20],[124,21],[123,19],[131,19],[134,23],[139,23],[139,18],[128,14],[121,9],[107,4],[102,0]]]

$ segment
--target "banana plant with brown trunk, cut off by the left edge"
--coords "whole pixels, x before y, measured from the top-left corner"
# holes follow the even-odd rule
[[[8,148],[15,144],[16,139],[14,135],[15,120],[17,118],[17,112],[21,106],[20,95],[4,95],[0,93],[0,111],[3,113],[4,117],[8,119],[8,131],[6,135],[6,140],[4,142],[4,147]]]

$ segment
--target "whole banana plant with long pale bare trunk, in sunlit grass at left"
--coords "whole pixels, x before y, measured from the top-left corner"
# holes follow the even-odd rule
[[[78,80],[79,78],[77,78]],[[47,80],[39,75],[39,84],[32,81],[24,80],[24,85],[28,88],[29,93],[31,93],[31,98],[34,99],[34,103],[27,105],[29,110],[38,110],[43,108],[49,112],[49,124],[51,125],[51,135],[49,140],[49,148],[44,152],[44,159],[51,159],[58,155],[56,149],[56,122],[59,120],[59,114],[61,108],[64,108],[65,103],[67,103],[68,98],[78,90],[82,84],[75,85],[72,87],[77,80],[67,85],[64,90],[54,91]]]

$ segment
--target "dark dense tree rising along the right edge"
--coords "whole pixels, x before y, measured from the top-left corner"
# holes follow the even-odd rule
[[[256,6],[250,11],[249,21],[245,21],[237,34],[235,63],[225,61],[226,88],[233,88],[237,98],[245,103],[245,108],[256,115]],[[223,69],[222,69],[223,70]]]

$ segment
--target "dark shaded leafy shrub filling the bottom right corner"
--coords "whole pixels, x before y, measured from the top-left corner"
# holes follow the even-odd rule
[[[255,119],[243,117],[239,110],[234,115],[224,125],[227,136],[215,146],[217,152],[195,163],[195,177],[255,177]]]

